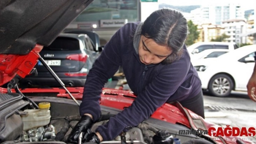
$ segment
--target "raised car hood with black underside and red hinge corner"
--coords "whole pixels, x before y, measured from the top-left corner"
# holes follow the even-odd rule
[[[1,0],[0,86],[29,74],[42,46],[50,45],[92,1]]]

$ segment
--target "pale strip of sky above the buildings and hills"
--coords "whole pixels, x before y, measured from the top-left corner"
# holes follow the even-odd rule
[[[221,3],[240,3],[244,10],[256,8],[256,0],[158,0],[158,3],[169,5],[203,5],[203,4],[221,4]]]

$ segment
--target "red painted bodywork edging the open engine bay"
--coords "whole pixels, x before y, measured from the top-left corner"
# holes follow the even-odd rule
[[[69,92],[77,100],[82,100],[83,87],[76,88],[68,88]],[[67,94],[67,92],[63,88],[27,88],[21,90],[22,93],[57,93],[57,97],[66,97],[71,99],[71,97]],[[0,88],[0,93],[7,93],[7,89]],[[103,88],[101,94],[100,104],[104,106],[108,106],[111,108],[116,108],[123,110],[124,108],[130,106],[136,96],[129,91],[124,90],[116,90],[111,88]],[[187,111],[186,114],[184,112]],[[210,123],[205,121],[205,119],[201,118],[199,115],[191,112],[190,110],[183,108],[178,103],[176,104],[164,104],[160,108],[158,108],[151,116],[152,118],[159,119],[161,121],[166,121],[173,124],[181,124],[187,126],[188,128],[193,128],[194,130],[208,130],[210,127],[219,127],[214,123]],[[200,120],[202,123],[202,127],[198,127],[195,121]],[[223,128],[224,129],[224,128]],[[207,138],[214,140],[217,144],[238,144],[236,140],[239,139],[243,141],[245,144],[253,144],[251,141],[246,141],[240,139],[239,137],[234,136],[222,136],[222,137],[214,137],[206,135]]]

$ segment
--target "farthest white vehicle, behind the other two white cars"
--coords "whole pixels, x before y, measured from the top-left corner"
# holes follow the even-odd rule
[[[238,45],[231,42],[198,42],[190,45],[187,49],[190,55],[200,53],[206,49],[237,49]]]

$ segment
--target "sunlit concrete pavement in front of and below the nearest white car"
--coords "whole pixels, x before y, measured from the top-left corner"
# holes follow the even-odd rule
[[[248,98],[246,92],[232,92],[229,97],[205,95],[205,119],[221,127],[256,128],[256,103]],[[256,136],[242,137],[256,143]]]

